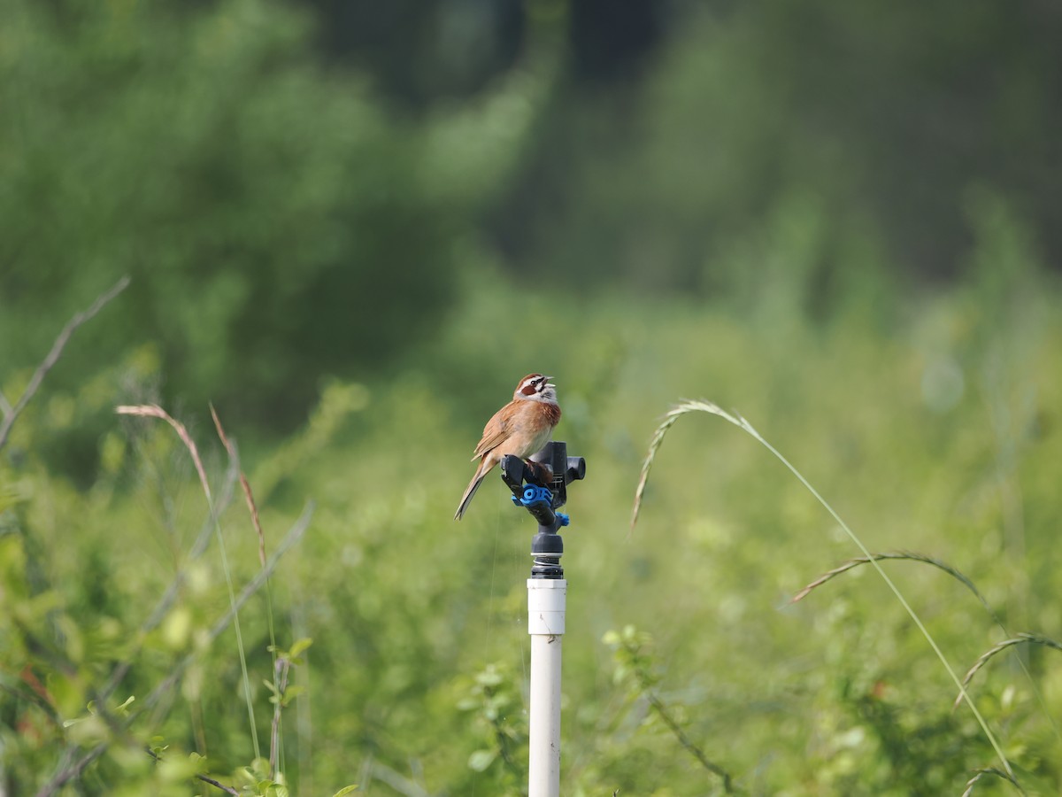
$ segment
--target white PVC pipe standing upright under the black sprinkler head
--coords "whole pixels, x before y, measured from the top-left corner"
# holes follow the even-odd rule
[[[531,716],[528,797],[561,794],[561,640],[564,633],[564,579],[528,579],[528,633],[531,634]]]

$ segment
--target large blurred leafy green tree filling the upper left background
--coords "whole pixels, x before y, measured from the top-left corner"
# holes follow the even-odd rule
[[[3,9],[0,373],[133,276],[61,386],[155,341],[172,394],[298,422],[322,374],[433,328],[531,114],[499,120],[492,96],[404,123],[315,62],[305,10],[264,0]]]

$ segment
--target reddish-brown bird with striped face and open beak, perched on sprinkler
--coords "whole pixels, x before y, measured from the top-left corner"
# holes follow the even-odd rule
[[[556,403],[556,386],[552,376],[528,374],[513,391],[513,400],[494,413],[483,427],[483,437],[473,454],[479,460],[476,475],[465,488],[453,520],[459,521],[483,478],[507,454],[526,459],[549,442],[553,427],[561,420],[561,406]]]

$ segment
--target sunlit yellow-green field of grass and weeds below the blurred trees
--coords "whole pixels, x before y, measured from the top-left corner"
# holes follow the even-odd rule
[[[217,408],[243,444],[267,555],[312,502],[242,606],[241,644],[232,625],[211,629],[229,578],[239,594],[261,572],[260,541],[209,408],[167,409],[198,445],[217,527],[165,421],[115,414],[87,482],[47,456],[84,413],[139,403],[129,385],[154,376],[150,346],[79,392],[44,383],[0,460],[0,785],[33,794],[100,749],[80,785],[46,793],[222,793],[199,773],[253,794],[280,794],[270,781],[299,795],[520,794],[533,529],[493,477],[465,521],[450,518],[483,421],[542,371],[564,409],[556,438],[587,461],[564,533],[564,794],[723,793],[705,761],[746,794],[1062,790],[1052,278],[986,272],[813,320],[798,291],[769,286],[705,304],[468,279],[430,345],[363,383],[323,384],[298,434],[266,440],[238,406]],[[533,323],[514,326],[514,306]],[[29,379],[0,385],[13,403]],[[879,565],[958,677],[997,643],[1042,634],[973,677],[984,727],[953,710],[947,667],[872,565],[792,603],[860,548],[724,419],[678,418],[631,530],[654,429],[698,398],[748,419],[869,552],[917,555]],[[241,774],[256,744],[270,757],[269,647],[302,639],[275,773]]]

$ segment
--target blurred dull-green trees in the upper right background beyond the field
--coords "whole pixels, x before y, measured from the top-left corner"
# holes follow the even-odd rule
[[[590,288],[715,293],[734,270],[727,253],[759,245],[799,197],[822,221],[810,292],[883,257],[915,283],[953,278],[966,273],[965,208],[982,188],[1058,260],[1058,6],[668,7],[640,75],[565,83],[493,214],[517,267]],[[752,273],[767,282],[764,265]]]

